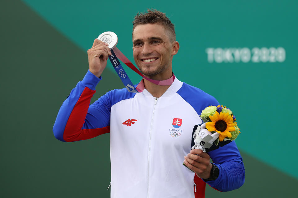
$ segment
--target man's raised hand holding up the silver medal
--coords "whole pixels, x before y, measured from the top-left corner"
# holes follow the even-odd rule
[[[92,48],[88,49],[88,62],[89,62],[89,71],[100,77],[102,71],[106,68],[106,61],[109,59],[109,55],[112,55],[109,44],[98,40],[94,40]]]

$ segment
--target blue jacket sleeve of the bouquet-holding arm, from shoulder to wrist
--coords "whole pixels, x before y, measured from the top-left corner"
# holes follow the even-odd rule
[[[198,115],[207,106],[219,105],[219,102],[214,97],[186,83],[183,83],[183,87],[177,93],[196,110]],[[192,138],[193,145],[194,141]],[[222,192],[231,191],[243,185],[244,166],[235,141],[219,147],[219,149],[212,150],[208,154],[219,168],[219,177],[214,181],[207,181],[206,183]]]

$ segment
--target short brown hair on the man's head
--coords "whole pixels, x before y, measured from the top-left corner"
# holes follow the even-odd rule
[[[171,42],[176,41],[176,34],[174,24],[171,20],[165,15],[165,13],[148,9],[147,13],[138,13],[133,20],[133,30],[137,25],[141,24],[156,24],[159,23],[169,31],[169,39]]]

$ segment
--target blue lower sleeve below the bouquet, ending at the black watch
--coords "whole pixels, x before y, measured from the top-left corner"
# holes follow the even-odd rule
[[[206,183],[221,192],[231,191],[243,185],[245,170],[235,141],[210,151],[208,154],[219,168],[219,177]]]

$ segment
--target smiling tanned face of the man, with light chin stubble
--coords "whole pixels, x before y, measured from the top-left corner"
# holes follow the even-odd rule
[[[174,43],[160,24],[137,25],[133,30],[133,58],[142,74],[171,77],[172,58],[178,51],[173,50]]]

